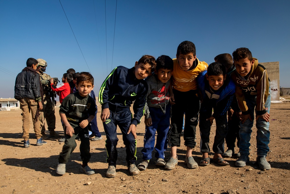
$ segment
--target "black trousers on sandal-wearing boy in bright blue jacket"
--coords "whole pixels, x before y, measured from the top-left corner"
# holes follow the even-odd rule
[[[215,111],[215,106],[213,107],[210,103],[204,102],[200,107],[200,151],[202,153],[210,152],[209,148],[209,135],[211,131],[211,122],[206,121],[212,115],[212,111]],[[224,153],[224,138],[228,132],[227,128],[227,118],[226,114],[215,118],[216,130],[215,130],[215,138],[213,142],[213,151],[217,154]]]

